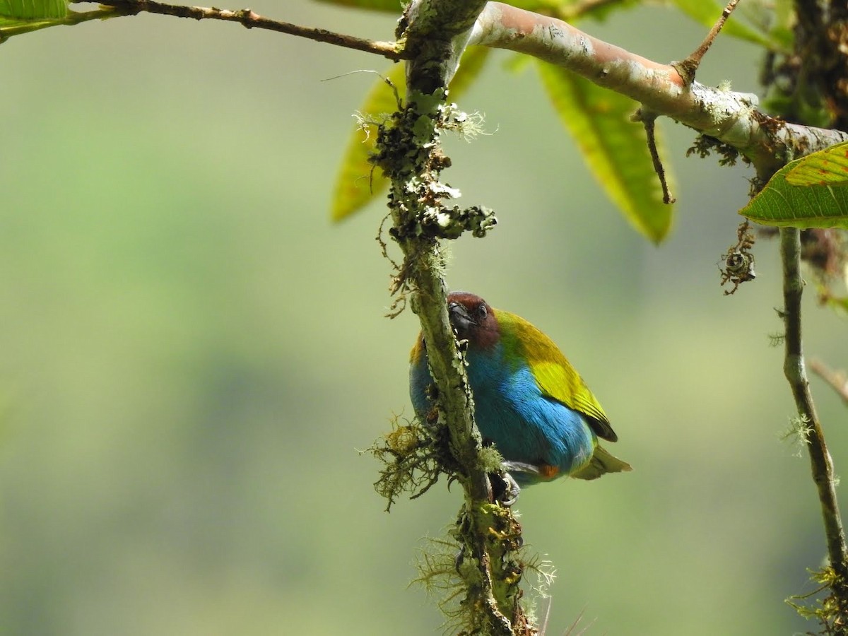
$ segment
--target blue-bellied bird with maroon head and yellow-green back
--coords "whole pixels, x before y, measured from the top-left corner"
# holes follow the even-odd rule
[[[449,293],[448,315],[456,337],[466,341],[468,383],[483,444],[494,444],[514,487],[633,470],[598,444],[598,438],[616,442],[618,436],[548,336],[473,293]],[[419,334],[410,353],[410,399],[424,421],[435,404],[432,385],[427,343]]]

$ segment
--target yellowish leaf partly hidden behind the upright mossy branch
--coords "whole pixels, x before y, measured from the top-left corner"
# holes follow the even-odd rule
[[[462,56],[460,70],[450,83],[449,98],[451,101],[466,92],[468,86],[477,78],[483,63],[488,58],[490,49],[486,47],[469,47]],[[406,84],[404,81],[404,64],[395,64],[388,74],[383,75],[392,82],[398,90],[399,97],[404,98]],[[365,126],[357,125],[349,138],[348,148],[344,151],[342,166],[336,178],[336,187],[332,195],[332,220],[342,220],[365,207],[371,199],[385,191],[388,180],[380,170],[368,161],[374,152],[376,141],[376,122],[385,119],[389,113],[398,109],[398,103],[392,88],[382,78],[371,88],[358,114],[358,119]],[[365,135],[365,129],[368,131]]]

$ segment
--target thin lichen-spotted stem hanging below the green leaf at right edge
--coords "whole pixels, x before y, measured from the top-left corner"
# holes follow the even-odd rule
[[[797,228],[780,228],[780,254],[784,274],[782,315],[786,327],[784,374],[789,381],[789,387],[792,388],[798,415],[809,428],[806,447],[810,454],[812,480],[816,483],[818,499],[822,506],[828,559],[844,582],[848,580],[848,552],[845,550],[845,532],[836,499],[834,466],[812,401],[801,346],[801,293],[804,281],[801,279],[801,232]],[[840,600],[846,602],[845,599]]]

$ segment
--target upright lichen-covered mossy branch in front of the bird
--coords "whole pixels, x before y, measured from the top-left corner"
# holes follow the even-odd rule
[[[447,207],[444,201],[455,191],[439,181],[449,165],[439,135],[456,112],[447,86],[484,5],[485,0],[416,0],[406,8],[397,36],[412,53],[407,100],[380,126],[373,160],[391,180],[389,233],[404,254],[393,288],[411,297],[438,392],[438,417],[430,425],[446,427],[455,467],[451,477],[465,494],[453,533],[468,612],[463,623],[473,633],[514,636],[533,633],[519,603],[522,566],[515,553],[521,527],[509,509],[492,501],[465,360],[448,319],[440,243],[467,230],[483,236],[494,224],[488,210]]]

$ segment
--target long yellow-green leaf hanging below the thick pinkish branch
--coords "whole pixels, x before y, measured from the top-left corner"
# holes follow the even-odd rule
[[[662,202],[644,128],[630,120],[637,104],[551,64],[539,62],[538,70],[607,196],[639,232],[661,242],[671,228],[673,206]],[[668,171],[666,176],[671,181]]]

